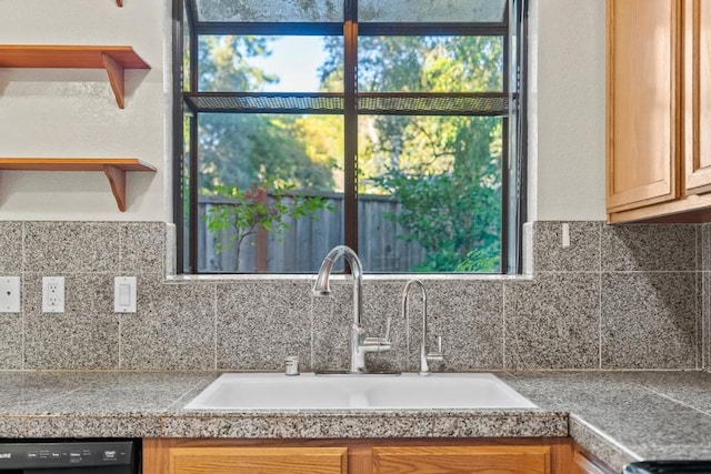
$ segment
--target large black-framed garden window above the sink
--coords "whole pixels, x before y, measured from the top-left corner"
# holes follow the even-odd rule
[[[523,0],[176,0],[183,273],[515,273]]]

